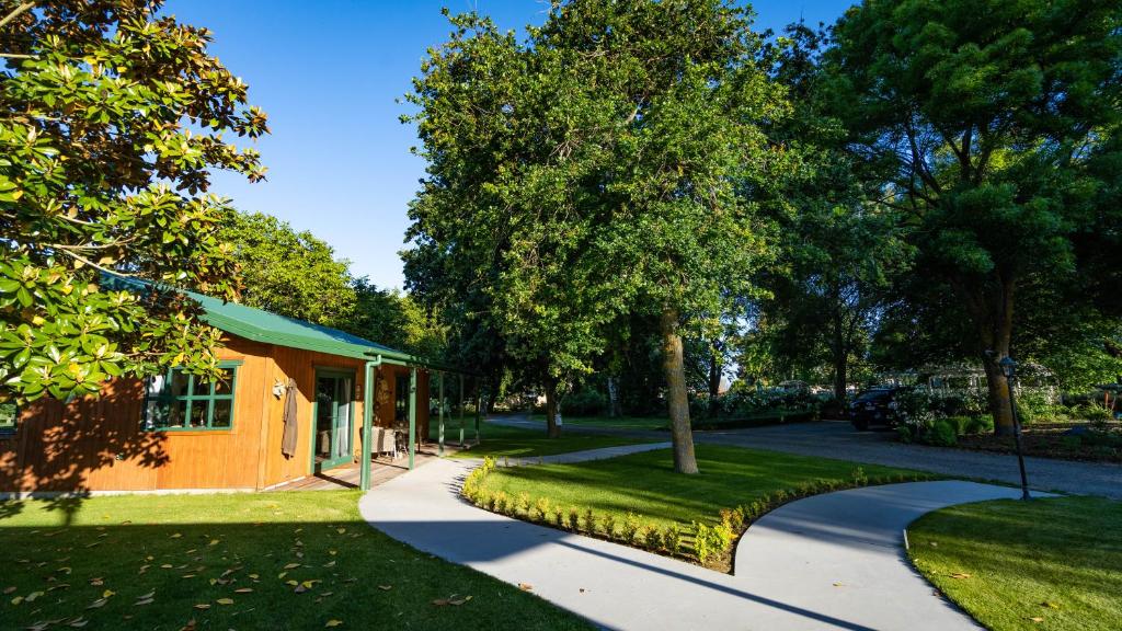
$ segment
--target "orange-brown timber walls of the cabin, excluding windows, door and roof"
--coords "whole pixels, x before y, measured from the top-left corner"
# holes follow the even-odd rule
[[[361,359],[229,338],[222,359],[238,359],[234,421],[230,430],[144,431],[144,391],[137,379],[107,383],[100,397],[71,403],[40,400],[21,410],[17,432],[0,437],[0,492],[264,488],[312,473],[312,394],[315,369],[353,371],[353,446],[360,454],[364,366]],[[383,366],[388,400],[379,424],[392,424],[394,378],[408,368]],[[284,397],[276,381],[297,384],[296,455],[280,452]],[[427,437],[429,375],[419,374],[419,435]]]

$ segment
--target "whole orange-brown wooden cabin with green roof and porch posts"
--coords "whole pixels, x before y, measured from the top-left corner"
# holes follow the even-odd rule
[[[190,295],[226,333],[219,357],[227,378],[206,383],[172,369],[107,382],[98,397],[9,405],[0,411],[0,492],[266,490],[359,461],[368,387],[374,427],[397,430],[407,443],[412,401],[414,445],[427,438],[431,371],[417,358]],[[288,396],[296,409],[292,454],[283,449]]]

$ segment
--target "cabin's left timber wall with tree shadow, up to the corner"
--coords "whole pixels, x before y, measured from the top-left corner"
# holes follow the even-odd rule
[[[227,345],[220,357],[242,362],[232,429],[144,431],[137,379],[109,382],[100,397],[43,399],[21,411],[12,438],[0,439],[0,491],[256,487],[269,347]]]

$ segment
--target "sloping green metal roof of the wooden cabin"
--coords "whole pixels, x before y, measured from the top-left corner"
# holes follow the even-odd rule
[[[122,290],[145,290],[151,284],[136,278],[126,278],[103,274],[103,284]],[[314,350],[342,357],[371,359],[373,355],[423,364],[424,362],[407,353],[375,344],[368,339],[352,336],[339,329],[313,324],[295,318],[286,318],[263,309],[254,309],[236,302],[226,302],[217,298],[184,290],[174,290],[191,296],[203,308],[203,320],[212,327],[263,344],[275,344],[288,348]]]

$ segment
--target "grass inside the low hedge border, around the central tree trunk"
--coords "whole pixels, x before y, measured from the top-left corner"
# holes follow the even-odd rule
[[[519,493],[546,497],[554,506],[574,506],[581,514],[589,507],[598,516],[622,516],[629,511],[660,528],[671,523],[688,527],[692,521],[716,523],[720,509],[790,490],[799,483],[852,481],[858,466],[739,447],[698,445],[696,449],[701,470],[698,475],[674,473],[671,450],[659,449],[576,465],[499,468],[487,476],[481,488],[491,494],[504,491],[512,497]],[[917,475],[891,467],[859,466],[868,477]]]

